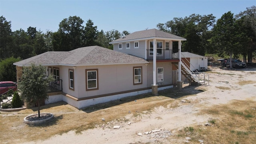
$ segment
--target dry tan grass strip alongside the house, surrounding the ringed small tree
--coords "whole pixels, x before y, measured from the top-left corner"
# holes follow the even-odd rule
[[[110,121],[127,122],[128,120],[125,118],[127,115],[139,121],[142,114],[145,114],[145,112],[150,114],[150,112],[154,111],[155,107],[174,108],[178,106],[180,101],[175,99],[201,92],[193,88],[190,89],[183,91],[171,88],[159,91],[160,96],[142,94],[104,104],[97,104],[82,110],[78,110],[65,102],[49,104],[41,106],[40,112],[54,114],[54,120],[47,124],[36,126],[24,124],[23,118],[37,113],[37,108],[21,110],[20,112],[1,112],[1,143],[16,144],[44,140],[70,130],[75,130],[79,134],[86,129],[95,128],[96,124],[102,125]],[[102,118],[105,121],[102,121]]]

